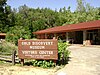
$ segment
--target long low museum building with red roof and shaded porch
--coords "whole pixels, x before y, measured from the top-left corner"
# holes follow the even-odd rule
[[[53,27],[33,34],[38,39],[56,37],[74,44],[100,45],[100,20]]]

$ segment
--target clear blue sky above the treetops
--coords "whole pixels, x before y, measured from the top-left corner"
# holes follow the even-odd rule
[[[100,0],[85,0],[86,3],[89,3],[93,7],[100,7]],[[18,8],[26,4],[31,8],[50,8],[52,10],[59,10],[60,8],[69,6],[71,11],[75,11],[77,3],[76,0],[8,0],[7,4],[12,8]]]

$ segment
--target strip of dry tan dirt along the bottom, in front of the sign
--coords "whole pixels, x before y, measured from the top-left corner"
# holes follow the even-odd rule
[[[54,75],[55,69],[43,69],[32,66],[0,66],[0,75]]]

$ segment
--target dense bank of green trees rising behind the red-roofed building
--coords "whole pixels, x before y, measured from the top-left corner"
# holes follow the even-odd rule
[[[0,1],[4,2],[4,0]],[[6,0],[1,5],[0,31],[13,35],[18,31],[18,37],[17,34],[15,35],[17,39],[23,37],[24,32],[27,33],[27,35],[25,34],[28,36],[27,38],[33,38],[32,32],[35,31],[55,26],[100,20],[100,8],[90,6],[85,0],[77,0],[77,9],[74,12],[71,12],[71,7],[67,9],[66,7],[60,8],[59,11],[56,11],[50,8],[29,8],[26,5],[20,6],[16,11],[16,9],[11,9],[10,6],[6,5]],[[26,36],[24,37],[26,38]],[[11,37],[11,39],[15,39],[15,37]]]

